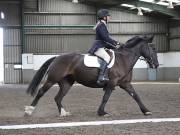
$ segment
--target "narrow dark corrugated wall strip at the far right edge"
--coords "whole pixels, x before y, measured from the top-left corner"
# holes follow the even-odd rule
[[[180,21],[170,22],[170,51],[180,51]]]

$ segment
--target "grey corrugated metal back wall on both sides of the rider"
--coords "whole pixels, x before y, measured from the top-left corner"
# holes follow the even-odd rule
[[[29,27],[25,29],[24,53],[86,52],[90,48],[94,39],[90,27],[77,29],[63,26],[95,24],[95,7],[63,0],[39,0],[37,7],[38,12],[25,9],[24,23]],[[158,51],[168,51],[166,20],[137,16],[119,9],[111,9],[110,12],[112,22],[108,27],[117,40],[125,42],[132,36],[151,33],[155,34],[154,43]]]

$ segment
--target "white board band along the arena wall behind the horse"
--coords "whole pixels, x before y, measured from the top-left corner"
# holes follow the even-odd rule
[[[51,57],[57,55],[22,54],[22,68],[38,70]],[[180,52],[158,53],[160,67],[180,67]],[[138,60],[134,68],[147,68],[145,61]]]

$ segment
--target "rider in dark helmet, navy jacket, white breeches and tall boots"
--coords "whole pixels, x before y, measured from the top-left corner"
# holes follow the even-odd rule
[[[120,45],[120,43],[109,36],[109,32],[106,26],[110,20],[109,11],[107,9],[100,9],[97,12],[97,17],[98,22],[93,28],[93,30],[96,31],[96,40],[88,52],[102,58],[103,60],[100,66],[100,73],[97,80],[97,83],[100,84],[103,81],[109,81],[107,65],[110,62],[110,56],[105,51],[105,48],[114,49],[117,45]]]

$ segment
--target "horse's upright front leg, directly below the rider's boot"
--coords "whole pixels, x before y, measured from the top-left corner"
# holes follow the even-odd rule
[[[105,93],[104,93],[101,105],[99,106],[99,109],[97,112],[99,116],[104,116],[104,115],[108,114],[107,112],[104,111],[104,108],[105,108],[107,101],[109,100],[109,97],[111,96],[112,89],[108,88],[108,89],[104,89],[104,91],[105,91]]]

